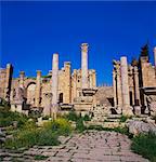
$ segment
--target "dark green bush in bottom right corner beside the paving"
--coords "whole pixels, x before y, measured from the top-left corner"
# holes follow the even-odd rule
[[[133,137],[131,149],[144,158],[150,159],[152,162],[156,162],[156,135],[139,135]]]

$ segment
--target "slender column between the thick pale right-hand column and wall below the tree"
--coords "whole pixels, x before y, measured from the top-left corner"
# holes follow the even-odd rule
[[[138,67],[134,66],[134,90],[135,90],[135,105],[140,105],[140,90],[139,90],[139,71]]]

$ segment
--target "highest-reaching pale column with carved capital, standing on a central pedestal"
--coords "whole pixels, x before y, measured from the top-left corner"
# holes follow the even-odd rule
[[[88,89],[88,44],[81,44],[81,87]]]

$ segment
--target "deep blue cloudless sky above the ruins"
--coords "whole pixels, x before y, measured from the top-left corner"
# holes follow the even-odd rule
[[[89,43],[89,68],[98,83],[112,83],[112,60],[138,57],[150,42],[151,62],[156,45],[156,2],[1,2],[1,66],[12,63],[21,70],[47,75],[52,54],[60,54],[60,68],[72,62],[80,68],[80,44]]]

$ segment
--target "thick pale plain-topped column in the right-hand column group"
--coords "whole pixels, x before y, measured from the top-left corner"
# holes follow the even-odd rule
[[[121,90],[122,90],[122,114],[131,116],[133,113],[130,108],[127,57],[120,58],[120,68],[121,68],[120,70],[121,70]]]

